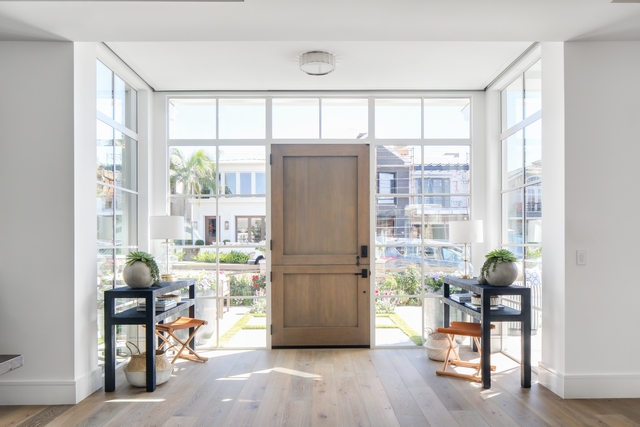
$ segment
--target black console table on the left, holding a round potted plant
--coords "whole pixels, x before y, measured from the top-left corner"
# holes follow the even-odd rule
[[[156,298],[182,288],[189,288],[189,299],[183,300],[167,311],[156,312]],[[116,388],[116,325],[145,325],[147,356],[147,391],[156,389],[156,323],[162,322],[186,308],[189,317],[195,317],[195,279],[182,279],[176,282],[162,282],[159,286],[144,289],[132,289],[128,286],[110,289],[104,292],[104,335],[105,368],[104,389]],[[144,298],[146,311],[137,311],[137,307],[116,313],[116,298]],[[193,328],[189,330],[189,334]],[[192,341],[193,345],[193,341]]]

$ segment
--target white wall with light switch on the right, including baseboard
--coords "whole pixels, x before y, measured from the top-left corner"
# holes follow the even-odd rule
[[[638,76],[640,42],[543,48],[540,382],[565,398],[640,397]]]

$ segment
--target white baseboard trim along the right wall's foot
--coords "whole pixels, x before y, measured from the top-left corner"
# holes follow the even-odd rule
[[[562,374],[538,363],[538,383],[563,399],[640,397],[640,374]]]

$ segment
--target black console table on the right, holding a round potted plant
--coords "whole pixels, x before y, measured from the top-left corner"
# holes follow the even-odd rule
[[[473,279],[460,279],[445,276],[444,283],[444,326],[449,326],[449,307],[467,313],[474,319],[479,319],[482,325],[482,386],[491,388],[491,322],[520,322],[521,334],[521,363],[520,383],[522,387],[531,387],[531,288],[524,286],[490,286],[481,285]],[[469,292],[481,296],[482,305],[479,310],[467,307],[451,299],[450,286],[457,286]],[[500,310],[491,310],[490,300],[492,296],[520,295],[520,311],[504,307]]]

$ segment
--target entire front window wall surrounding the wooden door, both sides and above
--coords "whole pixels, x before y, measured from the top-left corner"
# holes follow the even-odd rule
[[[167,99],[174,270],[197,279],[199,346],[267,344],[272,143],[371,145],[375,345],[419,346],[442,322],[440,278],[463,260],[447,224],[471,216],[470,96]]]

